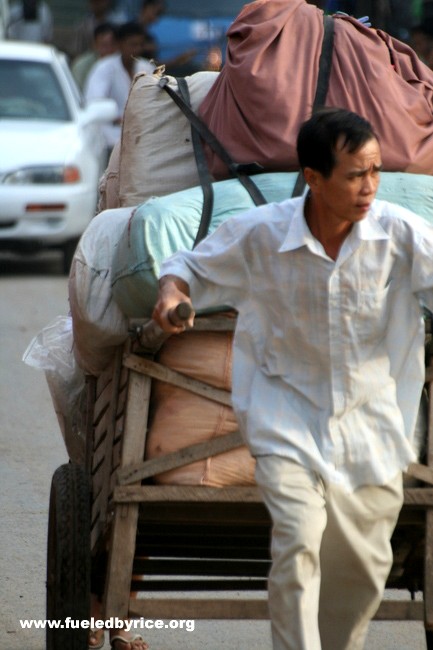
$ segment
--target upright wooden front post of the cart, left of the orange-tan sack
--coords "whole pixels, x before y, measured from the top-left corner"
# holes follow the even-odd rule
[[[148,377],[130,372],[122,464],[130,464],[144,455],[150,387],[151,381]],[[103,607],[106,618],[128,617],[137,520],[137,503],[115,505]]]

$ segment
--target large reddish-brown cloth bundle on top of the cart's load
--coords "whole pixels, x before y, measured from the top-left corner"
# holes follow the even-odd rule
[[[433,174],[433,71],[414,51],[353,18],[336,17],[326,105],[365,116],[384,168]],[[257,0],[228,31],[224,69],[200,115],[237,162],[298,168],[296,136],[311,114],[323,13],[304,0]],[[216,178],[228,171],[207,150]]]

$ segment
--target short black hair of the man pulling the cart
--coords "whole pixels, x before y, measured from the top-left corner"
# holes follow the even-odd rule
[[[301,125],[297,152],[301,169],[311,167],[329,178],[336,164],[336,148],[354,153],[366,142],[378,139],[370,122],[343,108],[322,108]]]

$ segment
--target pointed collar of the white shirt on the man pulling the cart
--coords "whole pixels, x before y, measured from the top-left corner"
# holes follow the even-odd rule
[[[307,195],[301,199],[297,199],[298,204],[289,221],[289,228],[284,238],[283,243],[278,249],[280,253],[286,251],[296,250],[302,246],[307,246],[311,250],[317,249],[317,240],[310,232],[310,229],[304,217],[304,205]],[[389,239],[389,235],[385,232],[379,223],[380,212],[378,204],[373,201],[367,216],[362,221],[356,223],[350,233],[350,238],[356,238],[366,241],[374,241],[380,239]]]

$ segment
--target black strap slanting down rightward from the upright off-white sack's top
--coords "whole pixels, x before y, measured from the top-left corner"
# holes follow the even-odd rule
[[[227,165],[230,172],[236,176],[239,182],[244,186],[248,194],[251,196],[255,205],[265,205],[267,200],[254,183],[254,181],[249,177],[249,174],[257,174],[258,172],[263,171],[263,167],[258,163],[236,163],[232,160],[229,153],[224,149],[222,144],[217,140],[212,131],[207,127],[207,125],[194,113],[192,108],[184,102],[182,97],[173,90],[168,85],[168,78],[162,77],[159,81],[159,86],[163,88],[173,99],[173,101],[179,106],[181,111],[186,115],[188,120],[194,129],[199,133],[205,142],[210,146],[212,151],[214,151],[219,158]]]

